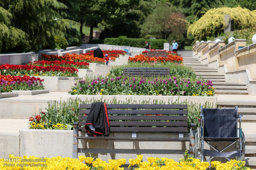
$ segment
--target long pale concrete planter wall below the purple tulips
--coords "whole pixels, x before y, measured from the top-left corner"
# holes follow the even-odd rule
[[[168,103],[192,103],[192,104],[199,104],[203,105],[206,102],[209,102],[215,106],[217,104],[217,97],[216,96],[140,96],[140,95],[66,95],[66,100],[68,99],[76,99],[79,98],[82,101],[104,101],[104,102],[111,102],[113,100],[121,102],[130,102],[130,103],[139,103],[142,101],[148,101],[149,103],[153,103],[154,101],[161,101],[165,104]]]

